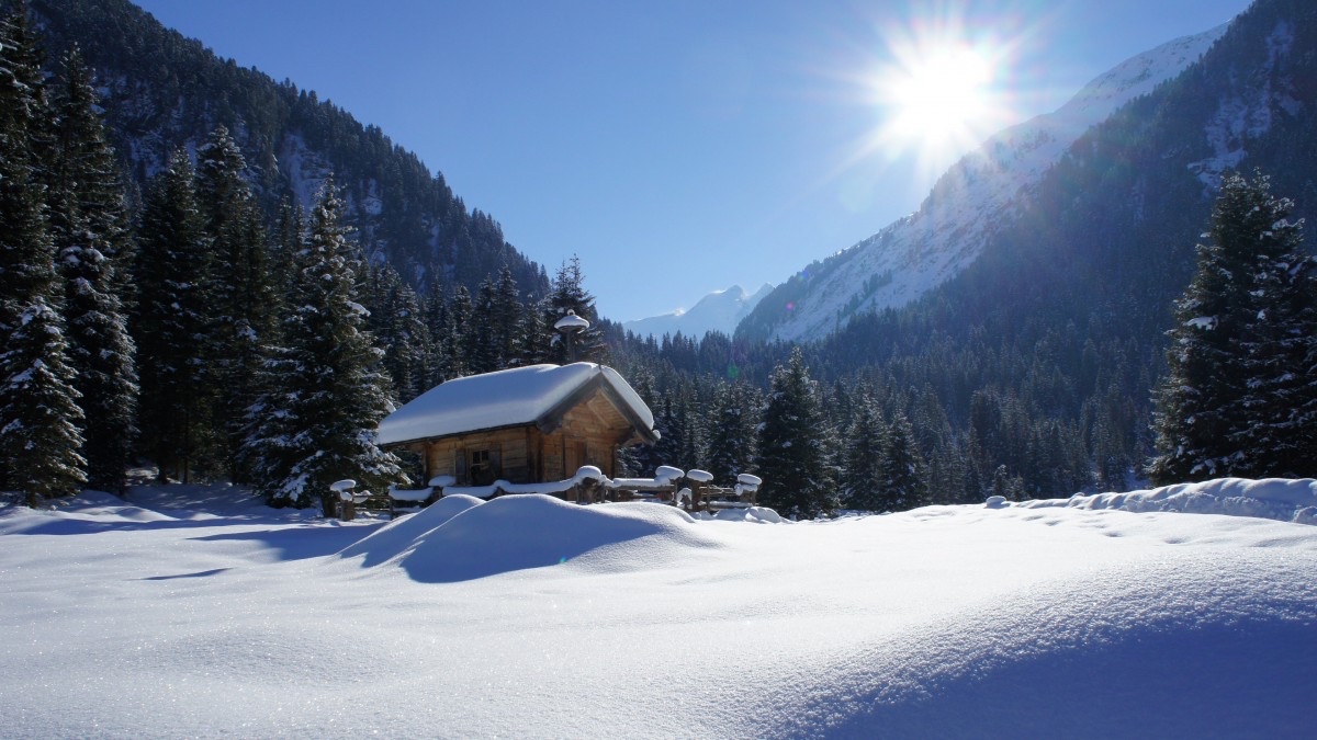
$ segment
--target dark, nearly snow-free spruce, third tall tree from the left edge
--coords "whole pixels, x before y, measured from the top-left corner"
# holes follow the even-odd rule
[[[178,150],[151,182],[134,273],[141,448],[161,478],[188,481],[215,465],[215,383],[204,350],[209,327],[209,240],[196,205],[192,165]]]

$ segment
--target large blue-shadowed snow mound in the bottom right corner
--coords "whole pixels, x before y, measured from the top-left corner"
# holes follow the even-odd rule
[[[967,604],[802,668],[745,735],[1308,736],[1317,585],[1249,554],[1163,552]]]

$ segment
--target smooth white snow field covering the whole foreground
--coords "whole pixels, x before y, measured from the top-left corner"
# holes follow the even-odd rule
[[[5,507],[0,735],[1312,737],[1314,491],[794,524],[544,496],[337,524],[182,486]]]

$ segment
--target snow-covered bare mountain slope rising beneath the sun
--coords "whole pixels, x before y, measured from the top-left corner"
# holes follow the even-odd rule
[[[1226,30],[1177,38],[1122,62],[1054,113],[988,140],[934,186],[919,211],[810,265],[740,327],[744,336],[801,341],[851,317],[896,308],[944,283],[982,251],[1043,174],[1087,130],[1195,63]]]

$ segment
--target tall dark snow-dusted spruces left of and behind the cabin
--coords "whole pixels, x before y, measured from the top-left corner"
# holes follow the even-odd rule
[[[511,270],[420,302],[370,262],[325,182],[267,219],[225,126],[179,149],[140,208],[76,49],[58,83],[20,5],[0,25],[0,487],[30,504],[161,479],[228,479],[306,506],[335,479],[403,482],[374,446],[396,403],[446,378],[564,361],[593,320],[578,262],[522,303]],[[450,296],[445,299],[445,296]],[[378,332],[378,333],[377,333]],[[601,352],[601,329],[579,337]]]

